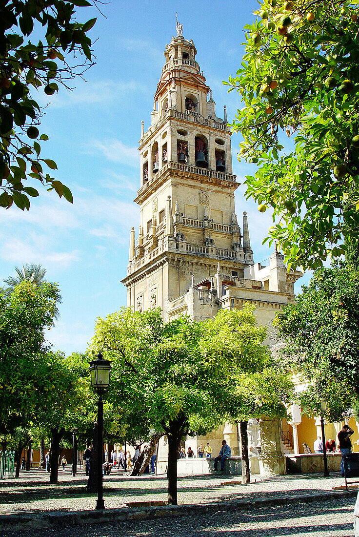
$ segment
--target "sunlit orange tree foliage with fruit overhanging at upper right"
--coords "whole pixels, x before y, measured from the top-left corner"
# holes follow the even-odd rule
[[[259,211],[273,208],[274,240],[288,265],[316,269],[357,243],[359,61],[357,0],[264,0],[245,26],[246,52],[230,91],[232,130]],[[284,151],[283,133],[291,137]]]

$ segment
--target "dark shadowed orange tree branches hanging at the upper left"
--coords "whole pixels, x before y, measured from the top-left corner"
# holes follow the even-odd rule
[[[0,5],[0,207],[24,211],[37,187],[55,190],[72,202],[69,188],[50,176],[56,163],[43,158],[41,109],[34,93],[53,95],[92,63],[91,30],[96,18],[79,23],[75,6],[86,0],[5,0]],[[40,37],[40,40],[39,40]],[[72,60],[71,60],[72,53]],[[82,59],[81,59],[82,57]],[[80,60],[79,60],[80,58]]]

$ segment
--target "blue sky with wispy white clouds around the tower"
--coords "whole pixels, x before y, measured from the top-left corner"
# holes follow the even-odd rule
[[[184,37],[193,39],[197,61],[213,90],[216,113],[233,119],[238,95],[227,93],[222,81],[240,66],[243,26],[253,19],[254,0],[196,2],[120,2],[102,5],[102,17],[83,9],[78,19],[98,16],[91,31],[96,65],[77,79],[76,88],[38,99],[46,108],[41,133],[42,157],[53,158],[56,178],[68,185],[74,205],[41,192],[30,212],[0,209],[0,280],[14,274],[14,266],[39,263],[47,279],[58,282],[62,294],[60,320],[48,332],[55,349],[84,351],[98,316],[126,305],[120,280],[126,274],[129,230],[138,229],[140,209],[133,199],[139,187],[137,151],[141,120],[150,125],[153,95],[164,64],[163,51],[175,34],[175,12]],[[232,136],[233,172],[239,178],[255,172],[254,165],[236,159],[239,135]],[[247,211],[255,262],[270,255],[261,244],[270,215],[236,194],[239,220]],[[307,277],[299,280],[300,285]]]

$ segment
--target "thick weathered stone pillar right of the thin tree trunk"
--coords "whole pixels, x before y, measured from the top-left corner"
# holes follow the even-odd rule
[[[285,457],[282,452],[280,420],[262,417],[259,427],[261,436],[260,475],[262,477],[285,475]]]

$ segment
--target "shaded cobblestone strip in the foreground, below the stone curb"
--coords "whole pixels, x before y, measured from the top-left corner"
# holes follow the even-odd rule
[[[68,526],[1,537],[353,537],[353,498],[115,524]]]

